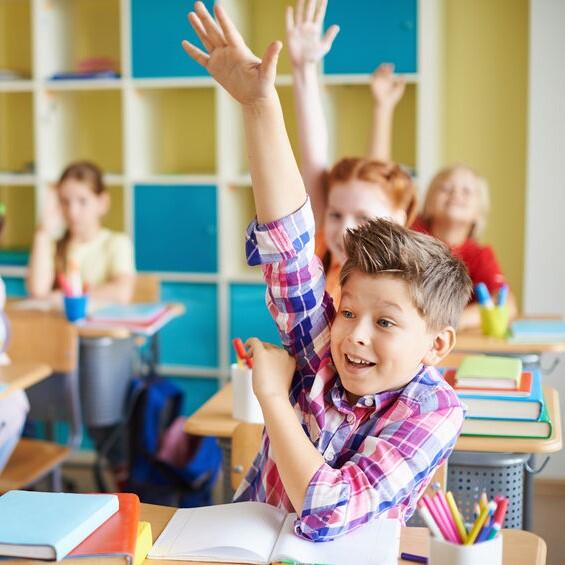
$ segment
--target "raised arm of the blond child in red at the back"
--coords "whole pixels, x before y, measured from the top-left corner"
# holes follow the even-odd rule
[[[404,94],[406,81],[394,74],[393,65],[382,64],[371,78],[373,94],[373,127],[369,158],[391,160],[392,122],[396,105]]]

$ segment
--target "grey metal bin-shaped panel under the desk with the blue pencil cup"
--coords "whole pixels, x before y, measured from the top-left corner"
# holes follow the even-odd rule
[[[111,426],[123,420],[134,351],[132,337],[81,338],[80,401],[87,426]]]

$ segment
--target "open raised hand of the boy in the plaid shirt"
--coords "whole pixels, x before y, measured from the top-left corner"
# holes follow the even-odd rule
[[[238,102],[252,105],[275,93],[275,77],[282,44],[275,41],[259,59],[247,47],[241,34],[218,4],[212,18],[202,2],[194,4],[188,20],[202,41],[206,52],[184,40],[186,53],[208,69],[208,72]]]

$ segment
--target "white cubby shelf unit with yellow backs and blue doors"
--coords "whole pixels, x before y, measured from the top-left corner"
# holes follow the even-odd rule
[[[284,39],[286,4],[224,1],[258,54]],[[0,70],[21,76],[0,80],[0,199],[8,205],[0,274],[9,294],[24,294],[42,195],[71,160],[96,161],[112,196],[106,225],[131,234],[137,267],[160,277],[162,299],[186,305],[163,331],[162,370],[190,377],[191,398],[203,400],[214,391],[209,379],[228,375],[232,337],[277,336],[260,272],[243,252],[254,206],[240,112],[180,47],[195,39],[189,9],[186,0],[0,0]],[[322,77],[335,158],[365,153],[370,74],[393,62],[409,82],[394,157],[429,178],[439,146],[440,12],[440,0],[358,0],[354,10],[330,0],[326,21],[342,28]],[[119,77],[52,79],[94,58],[112,60]],[[296,149],[290,70],[283,51],[277,89]]]

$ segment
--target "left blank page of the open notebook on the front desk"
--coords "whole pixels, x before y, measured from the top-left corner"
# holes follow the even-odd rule
[[[285,516],[261,502],[180,508],[149,558],[267,563]]]

